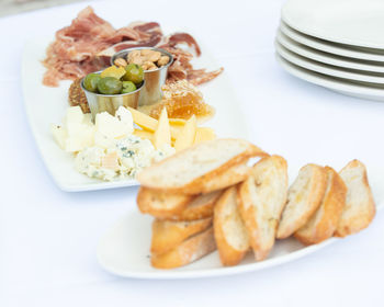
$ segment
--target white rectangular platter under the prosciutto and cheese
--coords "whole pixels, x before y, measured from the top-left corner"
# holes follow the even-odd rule
[[[22,87],[25,111],[31,129],[43,160],[57,185],[67,192],[103,190],[137,185],[135,180],[104,182],[88,178],[76,171],[74,156],[61,150],[50,134],[50,124],[60,123],[68,107],[68,89],[70,81],[61,81],[58,88],[42,83],[45,68],[42,60],[45,50],[54,37],[31,39],[24,48],[22,62]],[[195,59],[195,67],[216,69],[213,58],[202,48],[202,56]],[[223,91],[225,89],[225,91]],[[215,129],[218,137],[248,138],[248,128],[238,107],[231,84],[223,72],[213,81],[200,87],[205,101],[216,109],[213,120],[206,123]]]

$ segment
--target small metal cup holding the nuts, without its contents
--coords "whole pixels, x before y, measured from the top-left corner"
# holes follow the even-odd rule
[[[154,104],[162,98],[161,87],[166,83],[168,68],[173,62],[173,56],[165,49],[155,47],[135,47],[123,49],[114,54],[111,58],[111,65],[114,65],[117,58],[124,58],[126,60],[127,55],[131,52],[143,49],[159,52],[161,55],[169,57],[169,62],[154,70],[144,70],[145,84],[138,101],[139,106]]]

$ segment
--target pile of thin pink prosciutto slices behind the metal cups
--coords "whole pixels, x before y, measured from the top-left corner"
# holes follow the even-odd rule
[[[211,72],[193,69],[190,64],[193,54],[180,48],[180,45],[187,45],[196,56],[201,55],[196,41],[188,33],[165,36],[157,22],[135,22],[115,30],[88,7],[69,26],[57,31],[56,39],[48,46],[43,61],[47,68],[43,83],[57,87],[60,80],[83,77],[109,66],[116,52],[142,46],[160,47],[173,55],[167,82],[187,79],[196,86],[223,71],[223,68]]]

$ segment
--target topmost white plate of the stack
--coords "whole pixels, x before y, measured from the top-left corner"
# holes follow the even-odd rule
[[[282,19],[293,29],[335,43],[384,49],[383,0],[289,0]]]

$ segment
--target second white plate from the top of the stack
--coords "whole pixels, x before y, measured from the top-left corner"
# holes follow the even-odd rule
[[[291,29],[284,22],[280,23],[280,30],[291,39],[321,52],[357,59],[384,61],[384,54],[370,53],[366,49],[351,49],[348,48],[346,45],[321,41],[316,37],[300,33]]]

